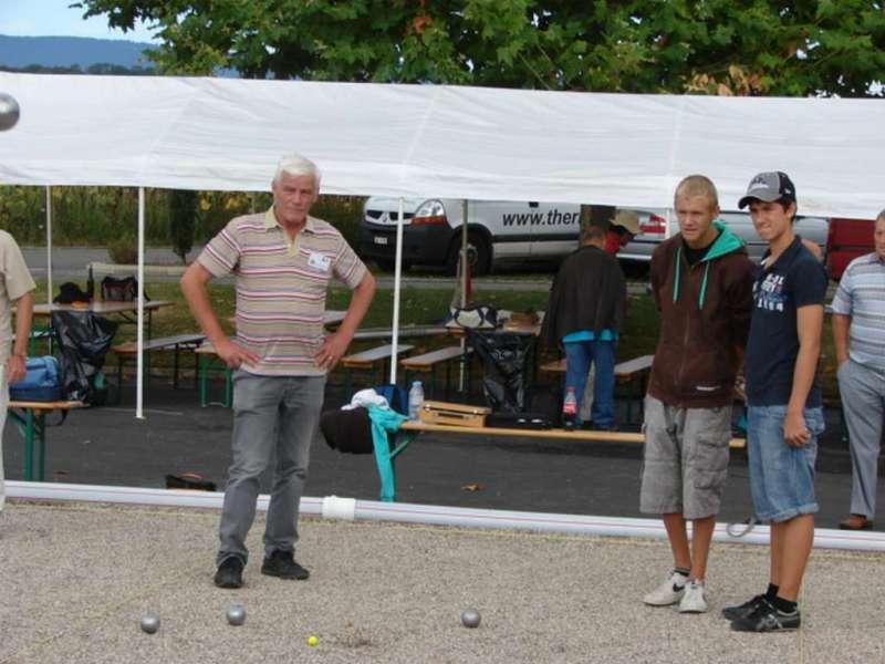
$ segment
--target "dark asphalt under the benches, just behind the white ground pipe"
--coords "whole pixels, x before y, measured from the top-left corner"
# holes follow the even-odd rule
[[[50,428],[48,479],[159,487],[166,474],[195,471],[223,486],[230,460],[229,409],[200,408],[194,388],[174,391],[159,378],[148,392],[146,419],[135,419],[133,402],[129,386],[123,406],[76,411],[62,426]],[[342,402],[342,387],[330,385],[326,406]],[[834,527],[848,508],[851,475],[836,413],[829,414],[827,426],[818,490],[820,523]],[[10,424],[3,440],[7,477],[21,479],[23,446]],[[639,517],[641,453],[637,445],[423,434],[397,461],[399,500]],[[372,456],[342,455],[314,443],[305,495],[377,500],[378,489]],[[879,495],[884,492],[885,483],[879,483]],[[721,519],[742,520],[750,511],[746,458],[735,452]]]

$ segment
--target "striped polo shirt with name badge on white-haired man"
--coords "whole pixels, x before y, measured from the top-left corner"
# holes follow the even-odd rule
[[[237,277],[237,343],[261,357],[251,373],[316,376],[330,278],[353,289],[366,267],[330,224],[308,217],[294,239],[273,208],[232,219],[197,259],[214,277]]]

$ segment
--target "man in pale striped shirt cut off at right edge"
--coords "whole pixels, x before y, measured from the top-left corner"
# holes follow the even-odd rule
[[[839,391],[851,438],[851,516],[839,527],[873,527],[885,419],[885,210],[876,217],[875,251],[854,259],[833,298]]]

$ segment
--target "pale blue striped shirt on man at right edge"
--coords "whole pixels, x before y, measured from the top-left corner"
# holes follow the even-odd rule
[[[833,298],[833,313],[851,317],[848,356],[885,371],[885,261],[878,255],[848,263]]]

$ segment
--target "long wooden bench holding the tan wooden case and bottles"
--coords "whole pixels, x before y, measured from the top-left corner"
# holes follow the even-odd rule
[[[375,449],[375,461],[381,480],[381,499],[385,502],[396,500],[396,473],[394,463],[396,457],[406,449],[412,438],[417,434],[428,432],[438,434],[459,434],[472,436],[507,436],[510,438],[546,438],[579,442],[605,442],[624,444],[643,444],[645,438],[641,433],[628,432],[586,432],[586,430],[565,430],[565,429],[517,429],[497,428],[486,426],[450,426],[445,424],[426,424],[419,421],[404,422],[399,429],[403,434],[396,437],[395,446],[391,450]],[[746,445],[743,438],[731,438],[729,447],[742,449]]]

